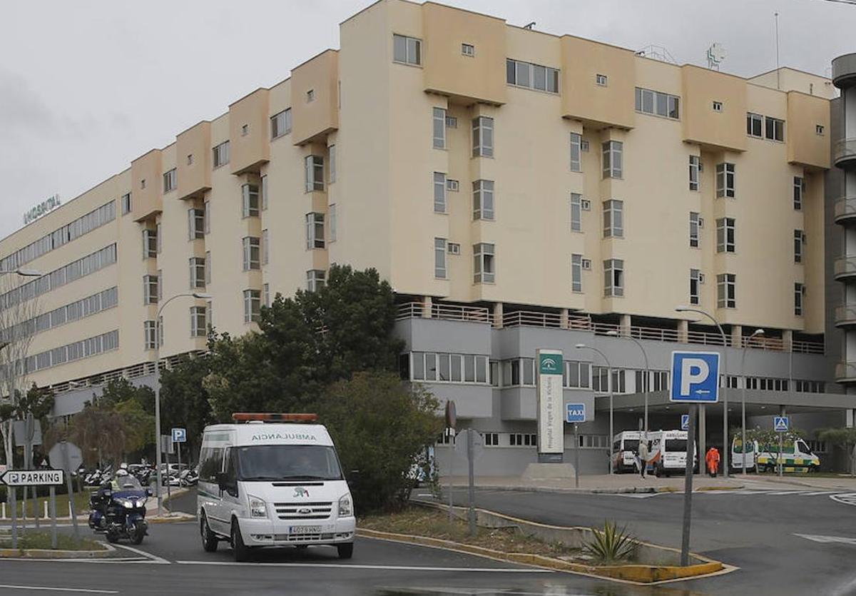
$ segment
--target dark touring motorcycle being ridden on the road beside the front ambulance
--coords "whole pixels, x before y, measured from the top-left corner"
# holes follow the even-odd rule
[[[92,492],[89,527],[106,534],[110,543],[128,539],[131,544],[139,545],[148,533],[146,500],[152,496],[152,491],[140,486],[140,480],[134,476],[121,476],[116,482],[118,488],[111,484]]]

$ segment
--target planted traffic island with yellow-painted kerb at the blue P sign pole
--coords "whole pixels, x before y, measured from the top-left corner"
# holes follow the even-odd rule
[[[636,541],[633,557],[623,563],[600,564],[584,551],[594,532],[587,527],[559,527],[476,510],[477,531],[468,533],[467,510],[418,503],[399,513],[370,516],[358,523],[358,535],[532,565],[556,571],[652,584],[725,573],[735,568],[691,554],[682,567],[681,552]]]

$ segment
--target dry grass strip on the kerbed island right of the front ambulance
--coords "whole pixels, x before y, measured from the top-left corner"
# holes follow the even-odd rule
[[[368,530],[428,536],[452,540],[466,545],[483,546],[505,552],[527,552],[562,559],[580,558],[580,549],[527,537],[516,527],[477,527],[471,537],[467,521],[453,518],[449,513],[422,507],[409,507],[397,513],[361,518],[357,525]],[[587,558],[587,557],[582,557]]]

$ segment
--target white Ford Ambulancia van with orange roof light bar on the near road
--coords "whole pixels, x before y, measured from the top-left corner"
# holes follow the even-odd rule
[[[315,414],[233,414],[206,426],[199,453],[199,532],[245,561],[259,546],[333,545],[354,553],[354,499]]]

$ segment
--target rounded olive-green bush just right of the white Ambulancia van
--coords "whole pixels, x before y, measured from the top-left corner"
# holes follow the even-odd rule
[[[344,470],[360,471],[354,501],[361,511],[394,509],[407,500],[416,481],[413,466],[425,464],[427,448],[442,431],[438,408],[418,385],[383,372],[355,373],[318,402]]]

